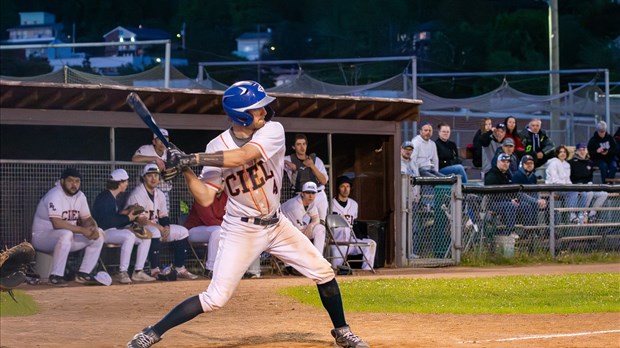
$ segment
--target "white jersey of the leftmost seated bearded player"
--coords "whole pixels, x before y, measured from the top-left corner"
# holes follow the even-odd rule
[[[51,218],[58,218],[77,225],[78,220],[90,217],[90,208],[86,196],[78,191],[68,196],[60,183],[49,190],[39,201],[32,221],[32,232],[40,233],[53,230]]]

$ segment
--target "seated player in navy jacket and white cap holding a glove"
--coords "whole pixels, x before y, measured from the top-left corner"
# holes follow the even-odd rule
[[[150,282],[155,280],[155,278],[143,272],[143,269],[146,257],[149,254],[149,248],[151,247],[151,239],[137,238],[127,227],[137,218],[145,221],[146,217],[140,216],[139,212],[134,212],[133,207],[118,211],[117,197],[120,193],[127,190],[129,186],[128,180],[129,175],[124,169],[112,171],[106,182],[106,189],[95,198],[93,216],[96,221],[99,221],[101,228],[105,230],[105,243],[121,245],[118,282],[121,284],[131,284],[132,280],[136,282]],[[127,271],[134,245],[138,246],[136,264],[132,277],[129,278]]]

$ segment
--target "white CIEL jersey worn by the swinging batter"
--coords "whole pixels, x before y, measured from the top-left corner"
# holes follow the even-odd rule
[[[228,193],[226,215],[232,217],[272,216],[280,208],[280,191],[284,167],[284,128],[267,122],[248,142],[258,148],[262,158],[235,168],[205,166],[201,180],[218,190],[222,178]],[[207,144],[207,153],[237,149],[231,130],[226,130]]]

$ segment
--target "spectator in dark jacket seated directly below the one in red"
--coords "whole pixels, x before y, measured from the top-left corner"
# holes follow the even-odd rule
[[[497,156],[497,165],[484,175],[485,186],[510,185],[512,184],[512,175],[508,170],[510,166],[510,156],[500,153]],[[499,235],[511,235],[517,237],[514,233],[514,226],[517,219],[516,209],[519,207],[518,201],[508,193],[492,193],[489,198],[488,210],[496,216],[502,218],[504,228],[500,230]]]

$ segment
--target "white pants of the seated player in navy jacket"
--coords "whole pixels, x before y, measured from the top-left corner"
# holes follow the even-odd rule
[[[121,245],[119,271],[127,272],[129,269],[131,252],[133,251],[134,245],[138,246],[135,269],[138,271],[144,269],[144,263],[146,262],[146,257],[149,255],[149,248],[151,247],[150,239],[138,238],[133,232],[127,229],[119,230],[116,228],[109,228],[105,230],[105,242]]]

